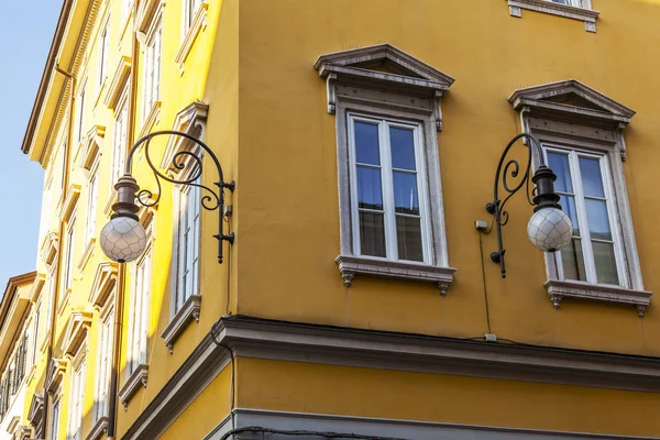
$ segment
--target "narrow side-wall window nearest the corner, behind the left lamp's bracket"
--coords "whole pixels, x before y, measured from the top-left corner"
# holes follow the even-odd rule
[[[179,193],[175,312],[199,292],[199,195],[200,188],[194,186],[186,186]]]

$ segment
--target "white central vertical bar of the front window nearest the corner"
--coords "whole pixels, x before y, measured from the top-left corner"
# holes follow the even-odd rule
[[[394,178],[392,175],[392,152],[389,143],[389,124],[381,121],[378,124],[378,150],[381,153],[383,182],[383,210],[385,211],[385,249],[387,260],[398,260],[398,245],[396,238],[396,213],[394,204]]]

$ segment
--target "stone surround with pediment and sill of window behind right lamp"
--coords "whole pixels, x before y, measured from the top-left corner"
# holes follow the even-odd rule
[[[587,103],[580,107],[553,101],[568,94],[574,94]],[[595,300],[634,306],[638,316],[644,317],[652,293],[644,287],[624,176],[627,158],[624,130],[635,111],[574,79],[516,90],[509,102],[520,112],[522,130],[537,136],[541,144],[604,155],[609,165],[606,178],[610,179],[613,208],[618,218],[610,228],[613,232],[617,228],[620,231],[622,264],[626,275],[623,279],[629,284],[613,286],[562,279],[557,256],[546,253],[548,279],[544,286],[554,308],[559,309],[566,298]],[[538,166],[536,151],[532,158]]]

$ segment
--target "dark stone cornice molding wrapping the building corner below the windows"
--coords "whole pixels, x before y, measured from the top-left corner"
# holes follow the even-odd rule
[[[158,438],[230,363],[230,353],[232,356],[330,365],[660,392],[659,358],[466,341],[243,316],[223,317],[211,331],[128,429],[123,439]]]

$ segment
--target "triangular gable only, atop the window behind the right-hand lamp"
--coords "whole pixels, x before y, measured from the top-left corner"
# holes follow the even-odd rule
[[[565,117],[598,119],[628,123],[635,110],[580,82],[566,79],[558,82],[518,89],[509,97],[516,110],[525,107],[544,113],[565,113]]]

